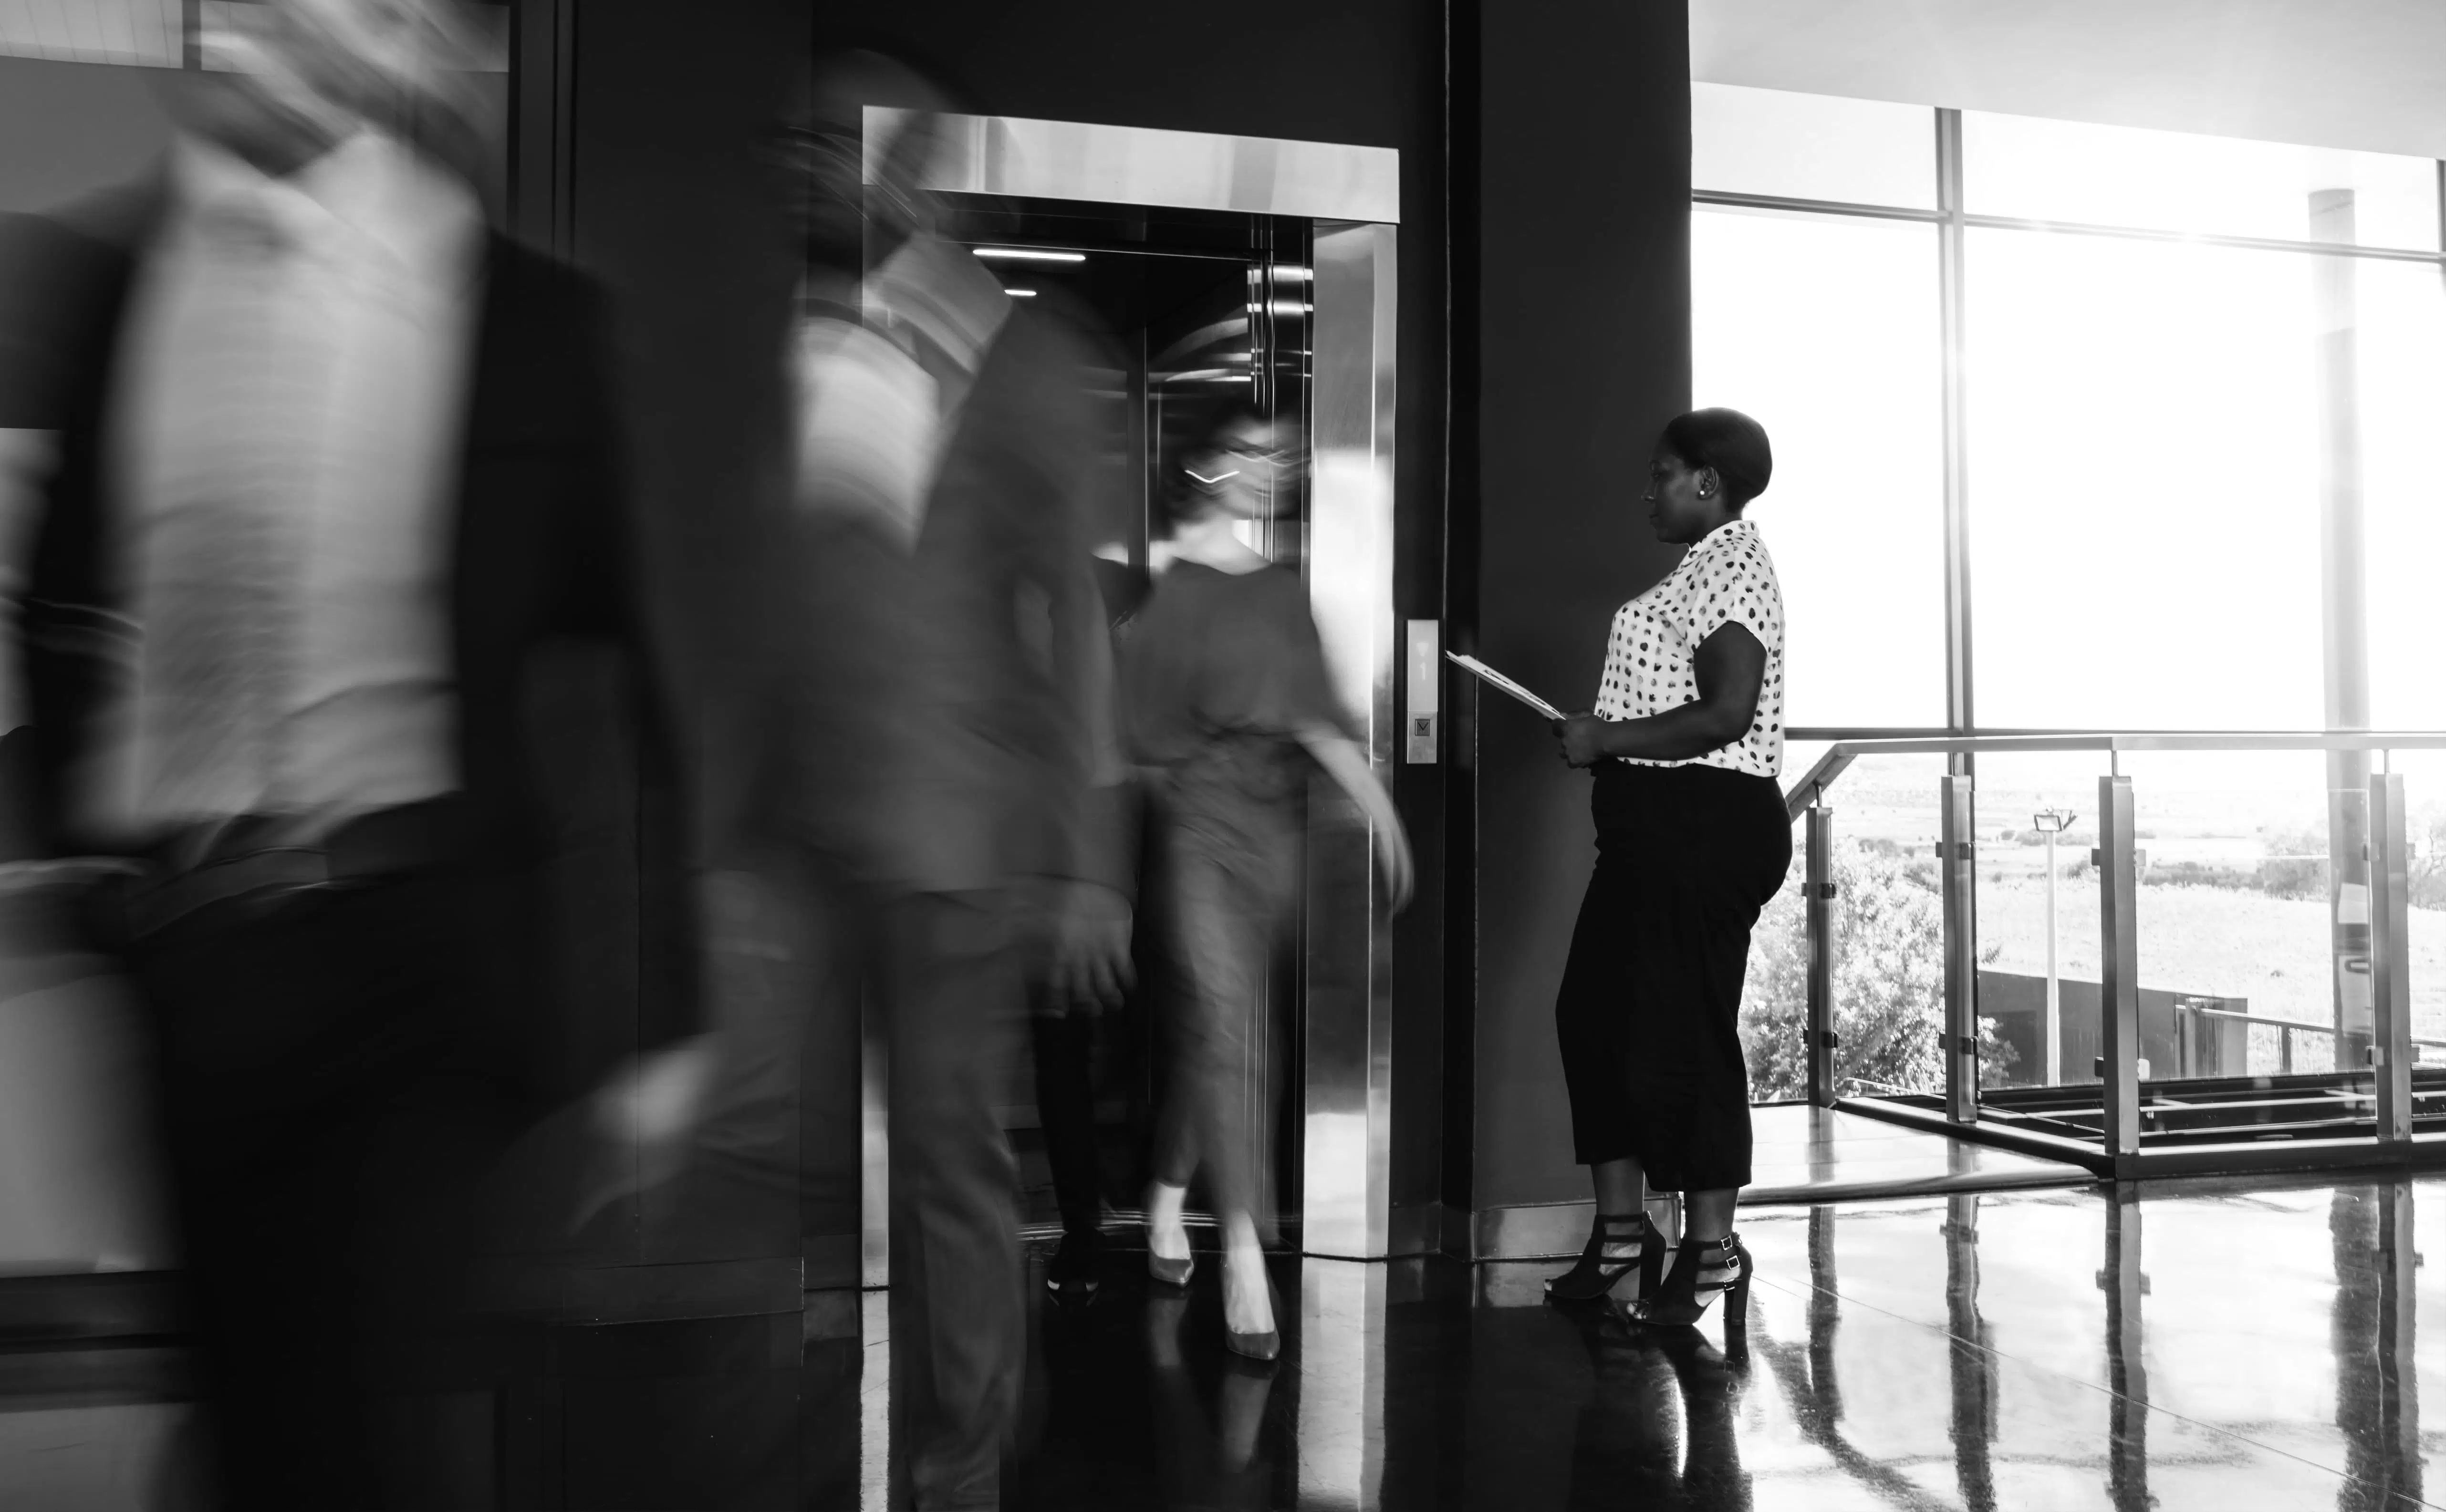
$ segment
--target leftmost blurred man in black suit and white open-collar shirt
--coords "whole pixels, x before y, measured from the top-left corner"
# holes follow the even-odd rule
[[[51,440],[12,807],[24,854],[125,861],[91,915],[152,1023],[225,1505],[423,1505],[543,1042],[531,653],[612,648],[675,780],[602,301],[487,230],[457,12],[230,12],[159,179],[7,228],[0,426]],[[690,1013],[663,939],[648,1045]]]

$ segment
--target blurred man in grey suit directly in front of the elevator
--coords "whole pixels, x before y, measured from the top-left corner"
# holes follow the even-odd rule
[[[775,132],[805,254],[783,744],[724,856],[734,878],[795,869],[817,913],[805,1059],[839,1079],[805,1116],[834,1167],[856,1155],[861,986],[881,1008],[893,1505],[998,1507],[1025,1311],[996,1106],[1030,971],[1076,1001],[1120,993],[1125,773],[1081,519],[1081,347],[944,235],[925,188],[944,98],[888,59],[837,56]],[[863,105],[912,115],[868,154]],[[797,1052],[768,1062],[785,1077]]]

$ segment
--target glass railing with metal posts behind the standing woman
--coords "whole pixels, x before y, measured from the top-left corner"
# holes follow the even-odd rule
[[[2446,734],[1805,754],[1798,898],[1761,920],[1783,998],[1805,962],[1786,1096],[2118,1172],[2446,1138]]]

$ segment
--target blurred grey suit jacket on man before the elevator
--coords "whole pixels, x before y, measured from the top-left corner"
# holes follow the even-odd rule
[[[1086,367],[1059,318],[1008,316],[942,435],[915,548],[800,499],[778,802],[881,895],[1130,891]]]

